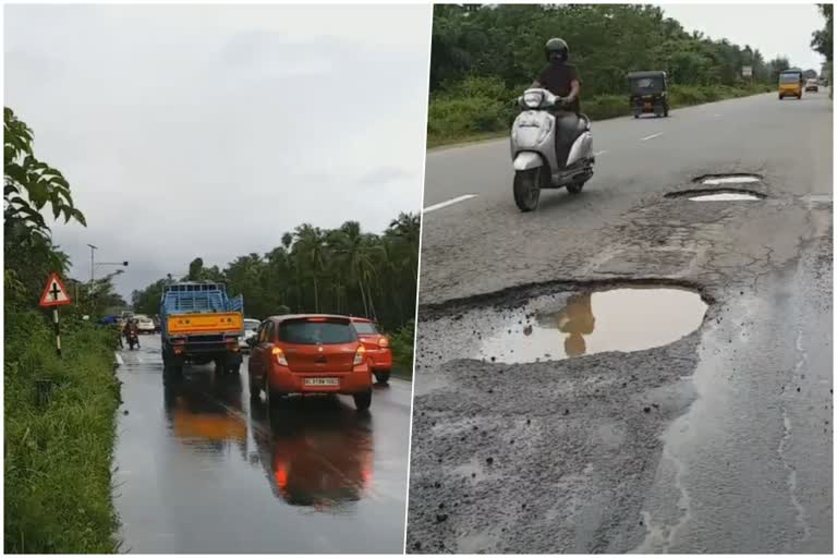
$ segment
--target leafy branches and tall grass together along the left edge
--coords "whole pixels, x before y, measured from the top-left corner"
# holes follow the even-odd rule
[[[38,307],[49,274],[64,275],[70,264],[47,219],[84,226],[84,215],[9,108],[3,148],[4,551],[113,553],[116,338],[83,320],[82,307],[65,306],[59,359],[51,316]]]

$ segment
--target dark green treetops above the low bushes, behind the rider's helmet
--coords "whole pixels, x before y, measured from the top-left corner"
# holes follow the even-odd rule
[[[830,9],[830,4],[827,4]],[[786,58],[766,61],[749,45],[688,33],[648,4],[456,5],[434,8],[430,92],[468,76],[497,77],[508,87],[529,84],[544,65],[544,43],[561,37],[579,66],[584,96],[620,94],[626,74],[664,70],[681,85],[737,85],[741,69],[774,82]],[[830,36],[823,48],[830,51]]]

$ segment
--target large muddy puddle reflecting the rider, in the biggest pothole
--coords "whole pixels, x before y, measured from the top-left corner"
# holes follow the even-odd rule
[[[640,351],[691,333],[705,313],[700,294],[686,289],[585,292],[572,295],[556,311],[532,312],[529,306],[514,311],[497,328],[499,332],[484,338],[476,357],[514,364]]]

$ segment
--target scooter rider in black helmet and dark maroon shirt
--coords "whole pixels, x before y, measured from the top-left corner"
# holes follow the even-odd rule
[[[554,37],[546,41],[544,49],[547,64],[541,70],[532,88],[547,89],[553,95],[565,99],[565,104],[555,113],[555,149],[558,163],[563,166],[575,138],[575,131],[581,114],[581,80],[575,66],[568,64],[570,47],[567,41]]]

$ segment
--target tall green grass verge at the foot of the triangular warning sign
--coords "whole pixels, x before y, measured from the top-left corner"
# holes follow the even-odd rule
[[[119,550],[112,454],[119,383],[113,336],[62,322],[63,359],[45,315],[5,305],[4,551]],[[39,405],[36,379],[53,383]]]

